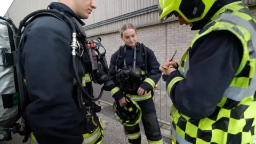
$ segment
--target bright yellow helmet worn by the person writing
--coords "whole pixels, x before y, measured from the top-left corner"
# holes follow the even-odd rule
[[[187,22],[202,20],[217,0],[159,0],[158,12],[161,21],[178,12]]]

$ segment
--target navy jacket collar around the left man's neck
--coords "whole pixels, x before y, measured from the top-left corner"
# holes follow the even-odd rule
[[[49,5],[49,8],[50,9],[57,9],[65,14],[68,15],[69,18],[72,18],[74,17],[75,19],[78,20],[78,22],[84,26],[85,23],[80,19],[78,18],[78,16],[76,15],[76,13],[70,9],[70,7],[68,7],[66,4],[63,4],[63,3],[58,3],[58,2],[52,2],[50,5]]]

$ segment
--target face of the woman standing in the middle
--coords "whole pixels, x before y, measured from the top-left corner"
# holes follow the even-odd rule
[[[137,33],[135,29],[126,29],[123,31],[123,36],[121,37],[126,45],[134,47],[137,43]]]

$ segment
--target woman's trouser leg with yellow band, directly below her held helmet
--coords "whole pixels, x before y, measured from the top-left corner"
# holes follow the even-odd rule
[[[141,137],[139,124],[134,126],[124,126],[124,131],[130,143],[140,144]]]

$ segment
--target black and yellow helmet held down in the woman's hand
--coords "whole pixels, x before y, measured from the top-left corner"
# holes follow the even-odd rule
[[[134,126],[138,124],[141,120],[142,112],[138,103],[129,97],[125,97],[130,102],[127,102],[127,105],[121,107],[118,101],[115,101],[113,104],[113,110],[116,117],[119,119],[125,126]]]

